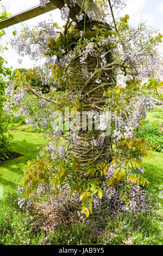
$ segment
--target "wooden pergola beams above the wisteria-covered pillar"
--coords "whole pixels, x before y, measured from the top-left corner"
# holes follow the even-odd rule
[[[67,2],[70,2],[70,0],[68,0]],[[82,4],[83,4],[82,0],[77,0],[76,5],[70,9],[70,18],[72,20],[74,19],[74,17],[77,14],[80,13],[80,11],[82,9]],[[52,10],[55,10],[55,9],[61,9],[62,7],[64,7],[64,5],[65,5],[64,0],[49,0],[49,2],[46,4],[46,7],[41,8],[40,5],[36,5],[33,8],[30,8],[28,10],[24,10],[21,13],[18,13],[16,15],[13,15],[13,16],[9,17],[8,19],[5,19],[5,20],[1,21],[0,22],[0,29],[7,28],[7,27],[10,27],[10,26],[15,25],[17,23],[32,19],[32,18],[37,17],[41,14],[47,13],[48,11],[52,11]],[[86,8],[85,11],[82,10],[82,13],[85,13],[87,15],[87,13],[89,13],[90,11],[93,11],[95,13],[95,19],[97,21],[101,20],[102,13],[98,9],[95,2],[93,2],[93,0],[88,1],[87,8]]]

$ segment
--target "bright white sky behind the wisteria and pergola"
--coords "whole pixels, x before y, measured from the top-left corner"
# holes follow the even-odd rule
[[[122,14],[129,14],[130,16],[130,25],[136,27],[140,20],[147,21],[147,25],[159,29],[160,33],[163,34],[163,0],[125,0],[127,7],[123,10]],[[40,3],[40,0],[3,0],[2,2],[8,13],[12,15],[20,13],[23,10],[34,7]],[[30,19],[26,22],[23,22],[23,25],[34,26],[39,21],[48,20],[53,18],[60,26],[64,25],[64,21],[60,19],[60,10],[55,9],[49,13],[42,14]],[[5,28],[5,33],[7,35],[3,36],[3,40],[9,42],[10,38],[14,35],[12,32],[16,30],[17,32],[21,31],[23,26],[17,24],[9,28]],[[160,47],[160,50],[163,52],[163,44]],[[18,54],[9,46],[9,50],[5,51],[3,57],[8,60],[8,65],[12,66],[13,69],[16,68],[32,68],[39,63],[34,63],[29,57],[24,57],[22,64],[18,64]]]

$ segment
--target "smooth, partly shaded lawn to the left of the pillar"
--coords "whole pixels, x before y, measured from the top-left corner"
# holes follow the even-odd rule
[[[0,186],[3,186],[3,194],[16,190],[23,185],[23,170],[27,167],[27,161],[36,159],[43,145],[43,133],[11,132],[14,136],[14,151],[21,154],[14,160],[4,162],[0,166]]]

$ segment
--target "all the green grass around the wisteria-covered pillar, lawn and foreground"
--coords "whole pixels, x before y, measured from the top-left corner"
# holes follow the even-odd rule
[[[35,221],[28,212],[17,205],[17,185],[23,185],[23,170],[27,161],[36,158],[43,146],[42,133],[12,132],[16,153],[23,156],[4,162],[0,166],[0,185],[4,188],[4,198],[0,202],[0,245],[162,245],[162,210],[149,210],[143,214],[123,213],[118,217],[101,216],[96,221],[98,235],[93,231],[93,223],[69,224],[46,235],[36,229]],[[159,198],[163,178],[163,153],[153,153],[143,160],[146,187],[155,202],[162,205]],[[95,227],[95,226],[94,226]],[[100,231],[102,230],[102,231]]]

